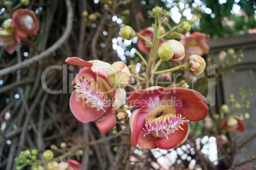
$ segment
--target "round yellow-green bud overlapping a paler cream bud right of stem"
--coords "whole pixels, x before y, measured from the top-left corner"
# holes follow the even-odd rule
[[[173,58],[174,55],[173,48],[167,43],[162,44],[159,47],[157,53],[159,57],[164,61],[171,60],[171,58]]]

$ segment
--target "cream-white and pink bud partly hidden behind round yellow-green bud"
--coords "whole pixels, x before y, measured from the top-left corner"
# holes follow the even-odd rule
[[[167,44],[169,44],[174,51],[173,58],[171,58],[171,61],[173,62],[179,62],[183,60],[185,56],[185,48],[184,46],[179,42],[174,39],[166,41]]]

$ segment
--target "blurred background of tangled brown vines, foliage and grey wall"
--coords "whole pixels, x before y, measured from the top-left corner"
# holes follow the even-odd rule
[[[190,33],[167,39],[185,44],[188,55],[200,53],[207,67],[198,76],[175,72],[182,75],[179,82],[206,96],[210,111],[204,121],[189,124],[188,140],[172,150],[131,148],[129,121],[101,134],[96,122],[79,122],[69,108],[71,81],[80,67],[65,63],[68,56],[120,60],[145,72],[135,53],[141,51],[138,37],[124,40],[119,32],[125,25],[136,32],[151,27],[155,6],[166,10],[166,31],[191,23]],[[23,150],[36,148],[43,160],[45,150],[63,142],[67,146],[54,150],[55,157],[78,160],[82,169],[256,169],[255,1],[1,0],[1,27],[17,8],[34,11],[40,26],[38,35],[22,40],[12,54],[0,34],[0,169],[16,169],[15,157]],[[159,68],[173,66],[164,62]],[[173,75],[168,76],[162,80],[171,84]],[[231,118],[245,131],[223,126]]]

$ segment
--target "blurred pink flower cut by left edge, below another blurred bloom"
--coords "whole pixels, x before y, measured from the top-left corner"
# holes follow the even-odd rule
[[[9,54],[14,53],[19,43],[20,39],[15,32],[0,28],[0,45],[4,46]]]

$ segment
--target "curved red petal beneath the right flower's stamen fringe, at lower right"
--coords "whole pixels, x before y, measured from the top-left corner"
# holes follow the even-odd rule
[[[171,149],[180,146],[187,139],[188,123],[183,124],[181,128],[183,128],[183,130],[179,129],[178,131],[175,131],[175,133],[168,136],[168,139],[166,137],[155,138],[157,147],[160,149]]]

